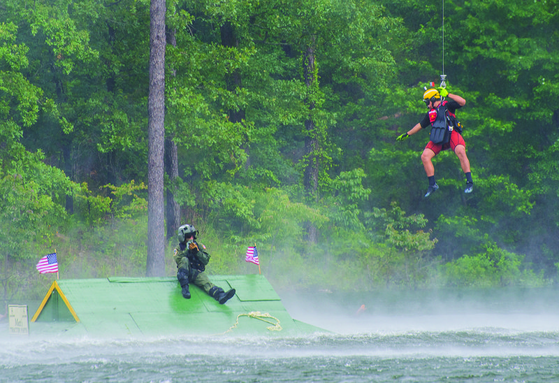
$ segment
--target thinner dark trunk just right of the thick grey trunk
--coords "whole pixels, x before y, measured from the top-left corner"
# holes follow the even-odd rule
[[[167,31],[167,43],[177,46],[176,30]],[[172,71],[173,76],[175,71]],[[178,160],[178,148],[174,141],[174,135],[168,136],[165,140],[165,157],[166,157],[166,168],[167,175],[169,176],[170,185],[167,189],[167,239],[173,238],[177,233],[177,229],[180,226],[180,205],[175,201],[174,183],[179,177],[179,160]]]

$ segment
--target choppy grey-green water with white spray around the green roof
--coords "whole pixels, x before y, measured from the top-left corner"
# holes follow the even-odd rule
[[[559,382],[556,291],[525,294],[282,296],[336,332],[305,338],[0,338],[0,382]]]

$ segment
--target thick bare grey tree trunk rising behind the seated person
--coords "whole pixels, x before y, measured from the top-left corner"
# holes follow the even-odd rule
[[[150,95],[148,97],[147,263],[148,277],[165,275],[165,0],[150,5]]]

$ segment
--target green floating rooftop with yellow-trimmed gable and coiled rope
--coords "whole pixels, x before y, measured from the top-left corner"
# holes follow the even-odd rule
[[[326,332],[291,318],[263,275],[212,275],[235,296],[225,305],[191,285],[184,299],[175,277],[57,280],[31,319],[30,333],[134,335],[273,335]]]

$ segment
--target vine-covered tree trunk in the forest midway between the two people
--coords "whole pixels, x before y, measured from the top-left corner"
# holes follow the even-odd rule
[[[318,186],[319,186],[319,164],[316,152],[319,148],[317,140],[316,123],[312,118],[312,110],[316,106],[314,101],[314,88],[317,87],[317,67],[314,62],[314,50],[316,45],[316,38],[311,37],[307,51],[303,57],[303,76],[305,78],[305,85],[308,88],[309,98],[307,103],[309,105],[309,118],[305,121],[305,129],[307,134],[305,136],[305,158],[307,159],[307,167],[305,168],[305,175],[303,178],[303,185],[305,192],[312,201],[318,201]],[[312,223],[307,224],[307,240],[312,243],[317,243],[317,227]]]

